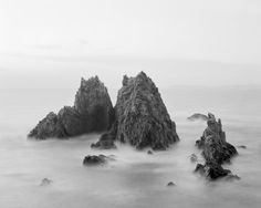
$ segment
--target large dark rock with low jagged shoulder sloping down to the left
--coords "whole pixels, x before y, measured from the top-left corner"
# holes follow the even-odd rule
[[[111,127],[114,117],[107,89],[97,76],[82,79],[75,95],[74,106],[63,107],[59,114],[49,113],[29,137],[45,139],[49,137],[77,136],[84,133],[102,132]]]

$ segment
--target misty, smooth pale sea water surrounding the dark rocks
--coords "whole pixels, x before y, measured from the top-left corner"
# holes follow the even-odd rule
[[[33,142],[28,132],[50,111],[71,105],[75,90],[0,91],[1,208],[125,208],[125,207],[260,207],[261,89],[174,87],[161,95],[176,121],[180,142],[167,152],[147,155],[128,146],[93,150],[98,135],[70,141]],[[115,93],[112,93],[115,100]],[[192,173],[189,159],[205,123],[189,123],[195,112],[222,118],[228,142],[247,145],[229,168],[238,181],[207,183]],[[88,154],[113,154],[104,167],[83,167]],[[43,178],[53,180],[41,187]],[[167,188],[174,181],[177,186]]]

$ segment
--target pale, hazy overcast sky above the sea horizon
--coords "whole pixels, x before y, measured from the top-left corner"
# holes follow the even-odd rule
[[[0,89],[261,84],[259,0],[1,0]]]

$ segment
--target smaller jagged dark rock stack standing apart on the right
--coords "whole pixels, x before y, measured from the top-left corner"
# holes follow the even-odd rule
[[[208,127],[201,139],[196,142],[196,145],[202,149],[206,164],[198,164],[196,171],[203,174],[209,179],[231,175],[231,171],[223,169],[221,165],[229,163],[230,158],[238,154],[237,149],[227,143],[220,119],[217,122],[215,115],[209,113],[207,124]]]

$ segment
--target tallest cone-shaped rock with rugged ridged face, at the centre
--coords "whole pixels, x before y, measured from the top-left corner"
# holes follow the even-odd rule
[[[119,141],[136,148],[166,149],[179,139],[158,89],[144,72],[136,77],[124,76],[114,111],[114,125],[93,147]]]

